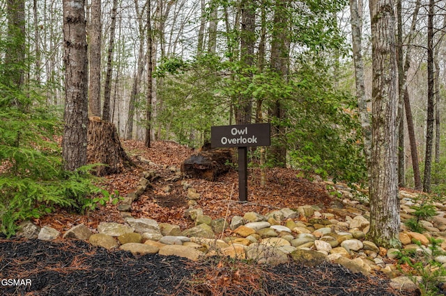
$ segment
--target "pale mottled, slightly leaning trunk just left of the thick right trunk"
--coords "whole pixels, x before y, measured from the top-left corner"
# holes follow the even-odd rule
[[[367,167],[370,167],[371,161],[371,120],[370,113],[367,110],[367,97],[365,96],[364,88],[364,63],[362,62],[362,17],[359,14],[357,1],[362,3],[362,0],[350,0],[351,13],[351,31],[353,44],[353,62],[355,63],[355,81],[356,81],[356,97],[357,106],[360,113],[360,122],[362,126],[364,155],[367,162]],[[362,7],[362,5],[361,5]]]

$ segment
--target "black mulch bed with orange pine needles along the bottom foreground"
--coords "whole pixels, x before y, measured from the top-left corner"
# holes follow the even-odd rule
[[[403,295],[388,281],[339,265],[265,267],[210,258],[108,252],[78,240],[0,239],[1,295]],[[1,281],[3,282],[3,281]]]

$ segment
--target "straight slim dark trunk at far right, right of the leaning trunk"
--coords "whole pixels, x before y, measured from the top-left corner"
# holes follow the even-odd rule
[[[434,0],[429,0],[429,17],[427,21],[427,123],[426,123],[426,154],[424,156],[423,191],[431,191],[431,168],[433,147],[433,6]]]

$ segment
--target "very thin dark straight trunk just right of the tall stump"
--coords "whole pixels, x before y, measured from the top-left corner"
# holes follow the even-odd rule
[[[146,104],[146,147],[151,147],[151,110],[152,110],[152,25],[151,0],[147,1],[147,104]]]

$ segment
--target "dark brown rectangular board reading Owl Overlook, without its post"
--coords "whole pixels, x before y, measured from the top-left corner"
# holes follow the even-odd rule
[[[213,148],[269,146],[270,130],[269,123],[211,126],[210,146]]]

